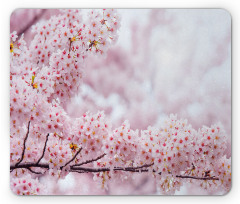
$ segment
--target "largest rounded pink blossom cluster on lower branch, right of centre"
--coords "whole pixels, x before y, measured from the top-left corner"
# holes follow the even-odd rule
[[[142,163],[154,162],[153,167],[162,175],[179,174],[192,163],[195,135],[186,120],[171,115],[160,129],[149,127],[142,131]]]

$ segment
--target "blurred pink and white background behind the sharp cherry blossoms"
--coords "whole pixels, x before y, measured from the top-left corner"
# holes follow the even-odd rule
[[[132,129],[158,126],[169,114],[186,118],[195,129],[222,123],[231,157],[231,16],[223,9],[119,9],[119,39],[104,57],[90,56],[84,80],[65,107],[72,117],[104,110],[118,127],[129,120]],[[83,9],[83,19],[87,18]],[[10,31],[24,33],[29,44],[31,26],[59,14],[56,9],[17,9]],[[96,187],[91,175],[69,174],[48,182],[52,194],[156,194],[154,179],[135,175],[107,191]],[[177,194],[207,194],[192,185]]]

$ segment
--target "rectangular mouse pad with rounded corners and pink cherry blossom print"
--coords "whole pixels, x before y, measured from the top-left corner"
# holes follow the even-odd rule
[[[224,9],[16,9],[16,195],[225,195],[231,16]]]

